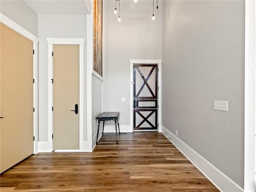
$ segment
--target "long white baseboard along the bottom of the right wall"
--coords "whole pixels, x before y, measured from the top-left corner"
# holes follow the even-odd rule
[[[230,178],[224,175],[220,170],[206,161],[202,156],[196,153],[192,148],[187,146],[182,140],[176,137],[172,132],[162,126],[162,133],[167,138],[171,138],[170,141],[216,188],[218,188],[221,192],[244,192],[240,186],[238,186],[235,182],[233,182]]]

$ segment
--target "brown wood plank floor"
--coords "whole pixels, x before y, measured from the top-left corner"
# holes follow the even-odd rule
[[[218,192],[161,133],[104,134],[93,152],[38,153],[1,174],[1,192]]]

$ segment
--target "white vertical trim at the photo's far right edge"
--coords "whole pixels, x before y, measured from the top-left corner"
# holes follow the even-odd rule
[[[244,191],[255,191],[255,0],[245,1]]]

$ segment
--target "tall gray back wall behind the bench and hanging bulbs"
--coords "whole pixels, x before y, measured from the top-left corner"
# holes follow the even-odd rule
[[[122,20],[118,22],[115,1],[104,1],[103,110],[120,112],[122,125],[130,124],[129,59],[162,58],[162,1],[158,6],[153,21],[152,1],[120,1]]]

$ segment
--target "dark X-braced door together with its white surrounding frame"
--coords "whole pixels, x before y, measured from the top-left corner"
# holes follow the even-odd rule
[[[130,60],[133,131],[161,132],[162,60]]]

